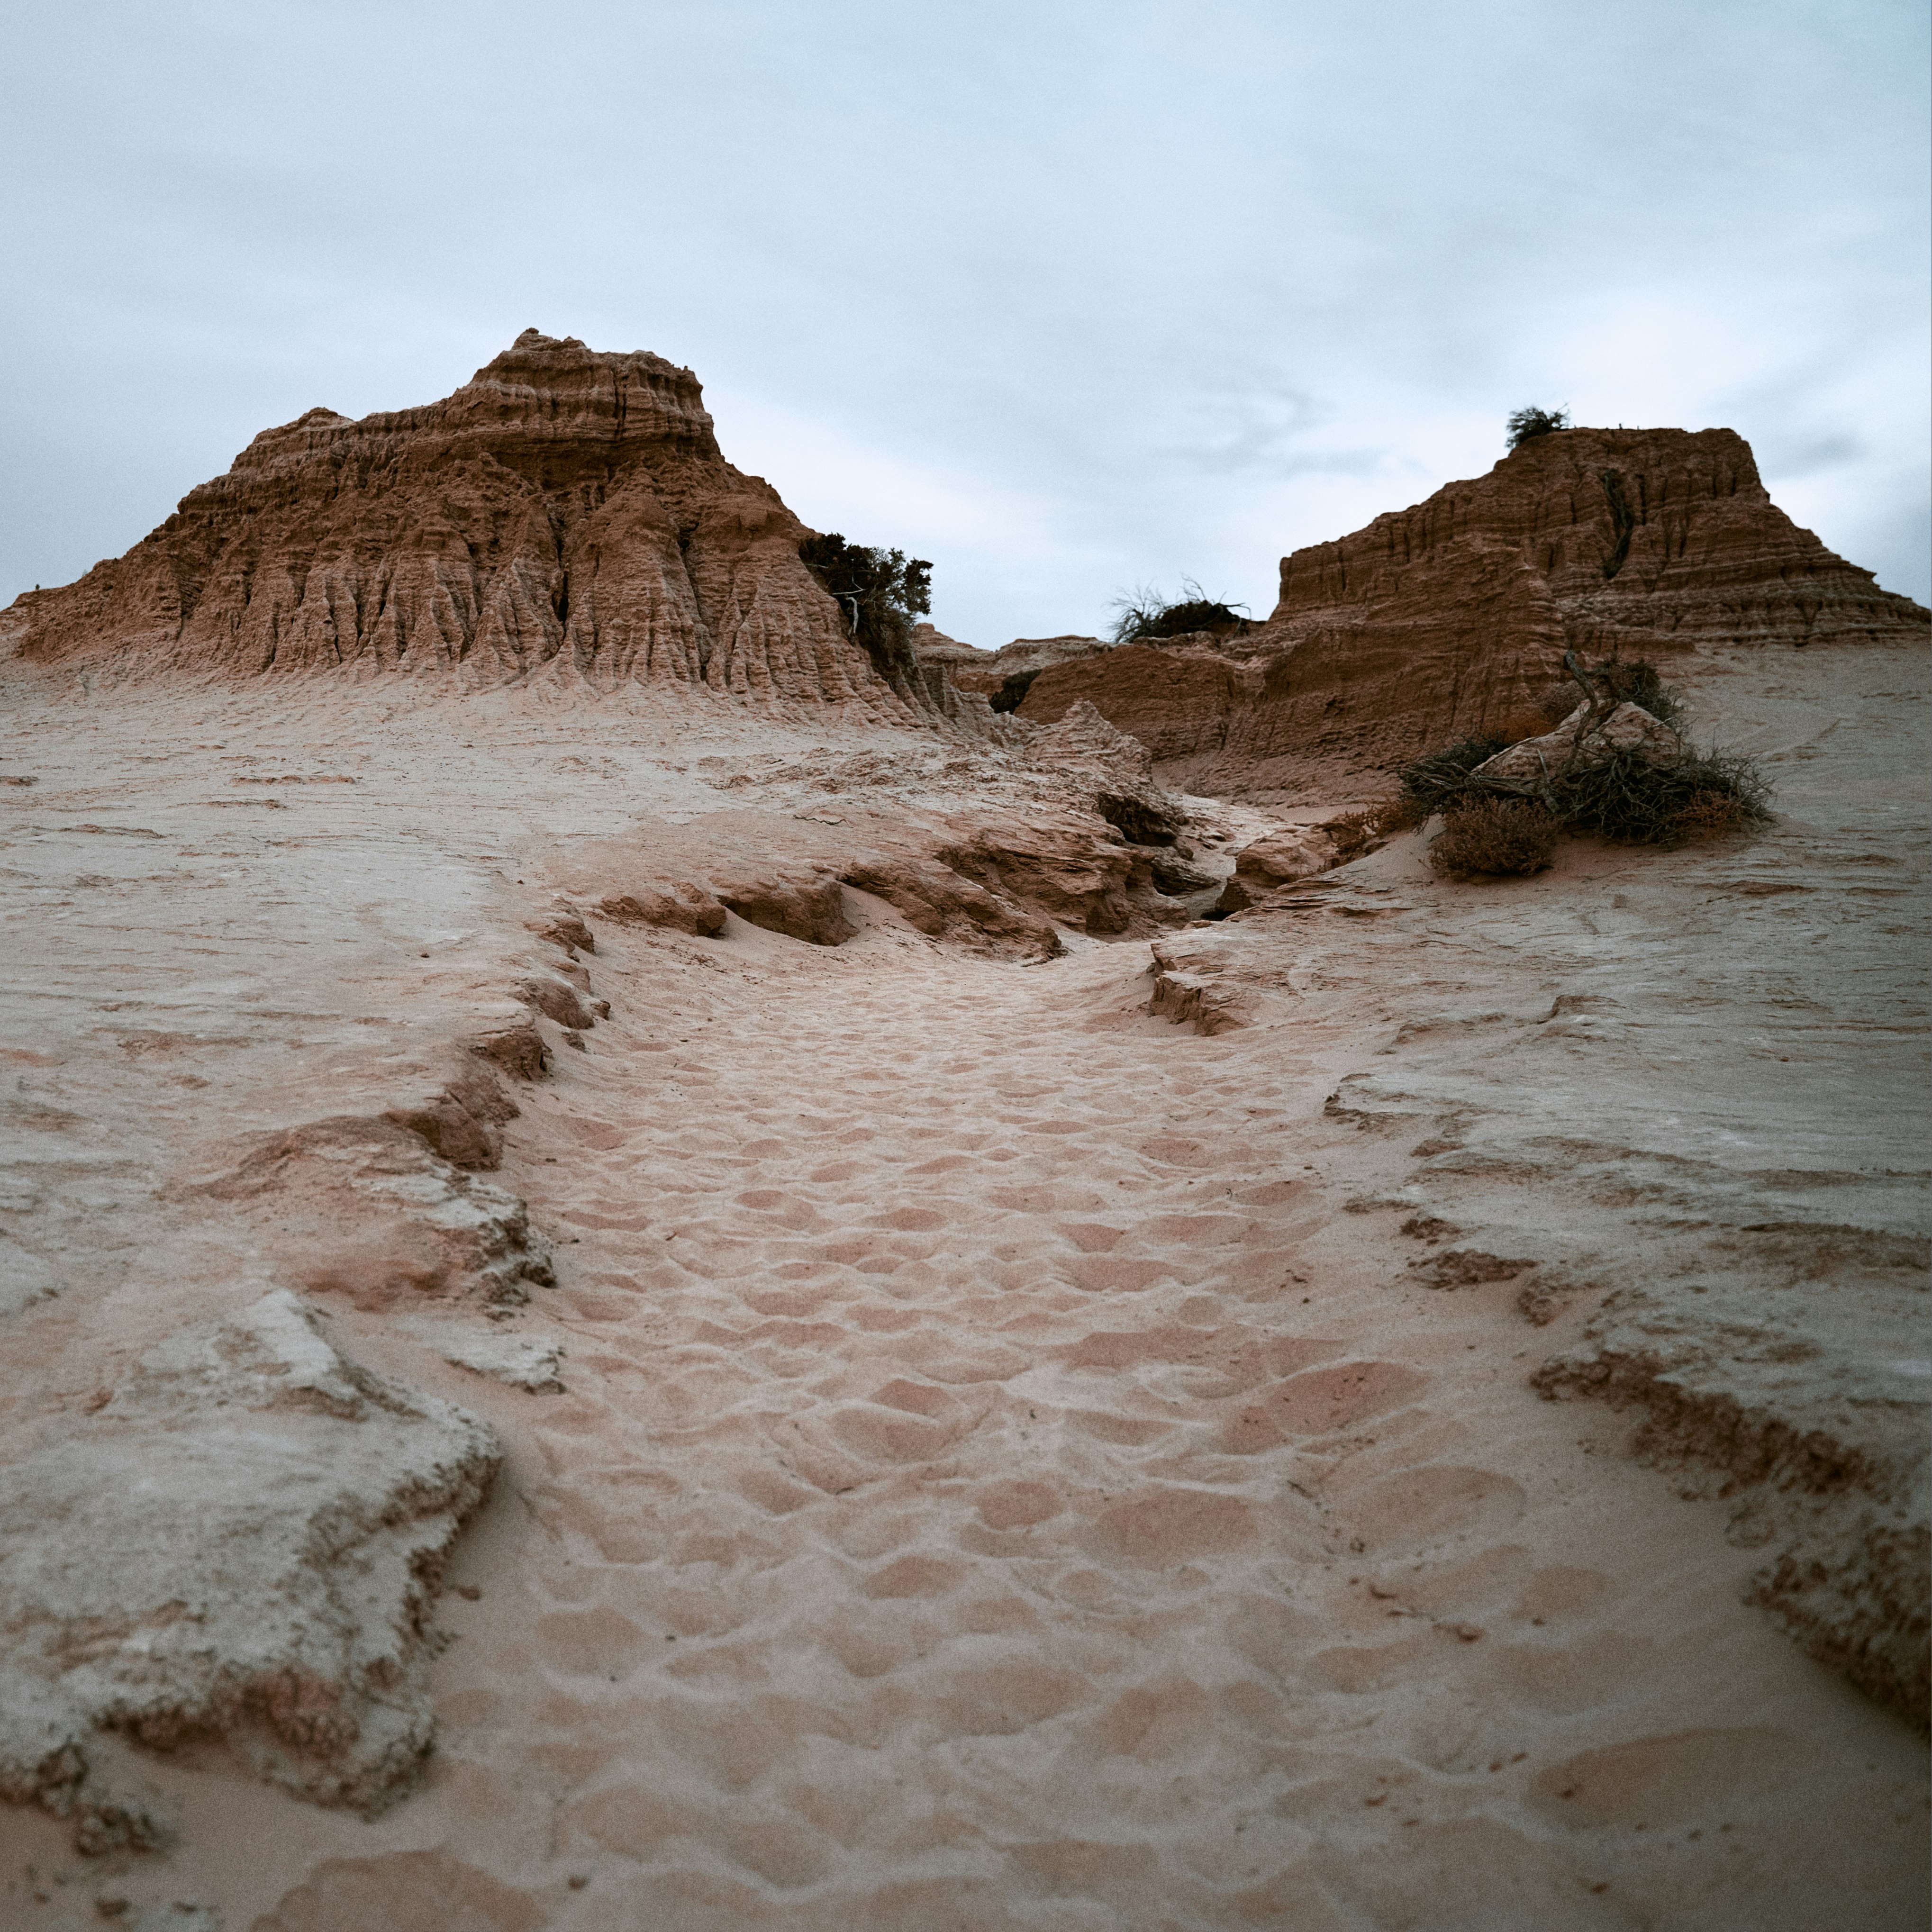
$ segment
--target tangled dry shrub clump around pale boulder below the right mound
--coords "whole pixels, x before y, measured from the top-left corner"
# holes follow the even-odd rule
[[[1613,748],[1596,736],[1621,705],[1636,705],[1681,734],[1683,699],[1656,665],[1565,663],[1569,680],[1501,730],[1470,734],[1405,765],[1397,773],[1401,796],[1381,810],[1376,829],[1387,837],[1441,813],[1443,833],[1430,850],[1439,871],[1522,875],[1549,864],[1563,833],[1669,848],[1770,819],[1770,784],[1748,757],[1687,742],[1675,752],[1648,742]],[[1542,738],[1578,713],[1573,736],[1555,742],[1551,763],[1536,777],[1484,769],[1509,746]]]

